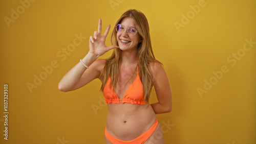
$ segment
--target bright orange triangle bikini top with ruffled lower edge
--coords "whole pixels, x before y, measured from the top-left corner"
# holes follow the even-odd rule
[[[111,78],[109,77],[108,81],[106,81],[105,87],[103,89],[103,95],[105,97],[105,103],[108,104],[120,104],[121,103],[130,103],[136,105],[144,105],[144,90],[142,83],[139,77],[139,71],[137,67],[137,78],[135,81],[129,86],[129,88],[125,91],[123,99],[119,99],[113,86],[110,87]]]

